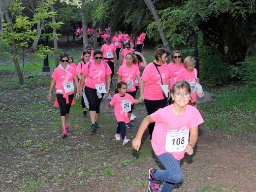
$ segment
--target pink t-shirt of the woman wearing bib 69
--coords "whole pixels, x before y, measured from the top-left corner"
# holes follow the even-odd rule
[[[60,67],[54,69],[52,78],[56,80],[56,93],[64,92],[63,83],[73,81],[74,76],[77,75],[76,70],[73,67],[68,67],[67,72],[62,70]],[[74,92],[70,92],[74,93]]]

